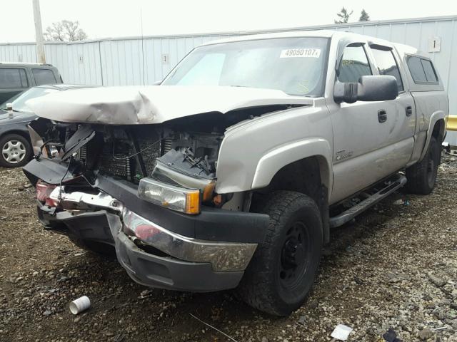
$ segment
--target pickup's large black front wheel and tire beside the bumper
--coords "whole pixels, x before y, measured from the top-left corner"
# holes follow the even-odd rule
[[[306,299],[321,261],[322,221],[316,203],[299,192],[273,192],[261,212],[270,216],[238,294],[254,308],[286,316]]]

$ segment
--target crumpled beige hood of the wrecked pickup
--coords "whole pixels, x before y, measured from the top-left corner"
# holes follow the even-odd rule
[[[200,113],[227,113],[261,105],[312,105],[281,90],[241,87],[145,86],[83,88],[27,101],[42,118],[66,123],[163,123]]]

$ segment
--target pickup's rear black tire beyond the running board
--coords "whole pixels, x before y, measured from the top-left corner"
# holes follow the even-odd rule
[[[441,163],[441,147],[435,137],[431,137],[425,157],[406,169],[406,191],[411,194],[428,195],[436,183],[438,166]]]

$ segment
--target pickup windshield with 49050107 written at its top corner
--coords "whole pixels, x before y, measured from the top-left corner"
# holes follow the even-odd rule
[[[201,46],[164,86],[239,86],[321,96],[327,38],[276,38]]]

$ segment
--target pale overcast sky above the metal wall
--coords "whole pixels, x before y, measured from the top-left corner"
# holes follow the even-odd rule
[[[55,21],[79,21],[89,38],[249,31],[333,24],[341,6],[358,21],[457,14],[457,1],[366,0],[41,0],[43,30]],[[1,1],[0,42],[34,41],[32,0]]]

